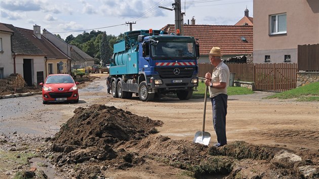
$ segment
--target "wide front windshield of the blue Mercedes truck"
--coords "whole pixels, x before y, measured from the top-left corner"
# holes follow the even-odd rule
[[[158,41],[151,45],[154,60],[196,59],[194,43],[189,41]]]

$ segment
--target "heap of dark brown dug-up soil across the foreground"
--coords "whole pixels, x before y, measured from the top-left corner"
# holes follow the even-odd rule
[[[294,178],[300,176],[296,168],[304,165],[303,161],[294,166],[272,162],[275,150],[243,141],[215,148],[152,135],[162,121],[115,107],[92,105],[74,113],[52,139],[52,162],[67,173],[65,177],[103,178],[110,170],[151,170],[152,163],[156,171],[170,166],[196,178],[216,174],[225,178]],[[163,171],[167,168],[155,175],[166,178]]]

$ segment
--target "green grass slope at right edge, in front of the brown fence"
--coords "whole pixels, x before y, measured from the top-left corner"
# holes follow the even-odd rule
[[[277,93],[265,99],[296,99],[296,101],[319,101],[319,82],[313,82],[289,91]]]

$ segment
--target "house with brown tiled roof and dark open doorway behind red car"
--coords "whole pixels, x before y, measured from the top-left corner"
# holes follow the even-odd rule
[[[9,41],[12,48],[4,51],[4,58],[1,58],[4,77],[19,73],[28,86],[33,86],[43,82],[48,74],[69,72],[67,64],[70,59],[43,38],[40,26],[34,25],[33,30],[29,30],[12,24],[0,24],[13,31]],[[6,46],[9,47],[8,44]]]

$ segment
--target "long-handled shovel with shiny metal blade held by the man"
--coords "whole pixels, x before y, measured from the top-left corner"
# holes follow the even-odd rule
[[[204,99],[204,117],[203,117],[203,130],[197,131],[193,143],[200,143],[208,146],[209,141],[211,140],[211,134],[205,131],[205,116],[206,116],[206,102],[207,102],[207,90],[208,86],[205,88],[205,99]]]

